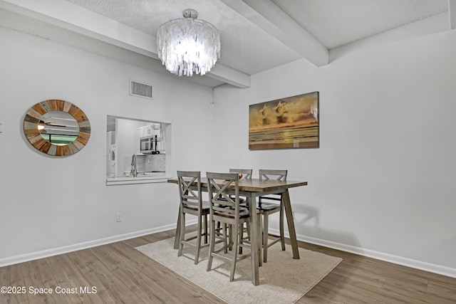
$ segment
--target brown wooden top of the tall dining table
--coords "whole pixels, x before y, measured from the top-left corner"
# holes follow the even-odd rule
[[[168,179],[167,182],[177,184],[177,179]],[[220,180],[220,184],[223,184],[222,180]],[[239,179],[239,190],[246,192],[271,192],[306,185],[307,182],[301,181],[278,181],[276,179]],[[207,187],[207,179],[205,177],[201,178],[201,186]]]

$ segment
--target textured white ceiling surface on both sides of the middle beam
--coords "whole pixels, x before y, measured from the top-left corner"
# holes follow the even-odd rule
[[[184,9],[222,33],[220,63],[249,75],[299,59],[237,11],[214,0],[66,0],[155,36],[158,27],[182,18]],[[264,1],[264,0],[252,0]],[[249,4],[249,1],[246,1]],[[447,0],[273,0],[319,42],[331,49],[448,10]],[[239,60],[248,56],[247,60]]]

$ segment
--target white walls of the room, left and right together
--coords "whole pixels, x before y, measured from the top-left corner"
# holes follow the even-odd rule
[[[172,123],[172,172],[286,168],[307,180],[291,190],[300,239],[456,276],[455,31],[365,47],[322,68],[283,65],[252,76],[252,88],[217,88],[215,105],[204,87],[0,35],[0,265],[175,226],[175,185],[105,186],[106,115],[116,115]],[[129,79],[154,85],[154,100],[129,96]],[[248,150],[250,104],[315,90],[320,148]],[[88,145],[71,157],[43,156],[23,135],[28,108],[51,98],[90,119]]]

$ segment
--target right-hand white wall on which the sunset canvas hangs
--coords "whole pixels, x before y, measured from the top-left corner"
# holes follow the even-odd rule
[[[219,159],[308,181],[290,193],[299,239],[456,276],[455,49],[446,31],[217,88]],[[313,91],[320,148],[248,150],[249,105]]]

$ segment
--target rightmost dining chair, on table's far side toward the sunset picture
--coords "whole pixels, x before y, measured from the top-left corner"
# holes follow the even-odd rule
[[[269,170],[259,169],[259,179],[268,180],[276,179],[286,181],[287,170]],[[279,202],[279,203],[277,203]],[[268,247],[274,245],[278,241],[281,242],[282,250],[285,250],[285,237],[284,237],[284,203],[281,194],[269,194],[266,196],[259,196],[257,209],[263,215],[263,262],[266,263],[268,259]],[[279,212],[279,237],[269,234],[269,216]],[[273,241],[269,241],[269,236],[274,236]]]

